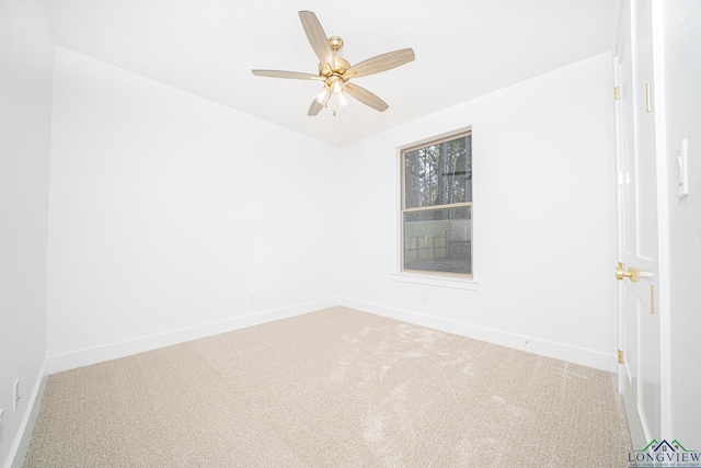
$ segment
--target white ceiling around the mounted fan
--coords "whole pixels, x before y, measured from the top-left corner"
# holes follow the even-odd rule
[[[452,106],[611,48],[613,0],[51,0],[57,45],[332,145]],[[383,113],[352,101],[308,117],[317,72],[297,12],[344,39],[352,65],[412,47],[416,59],[358,78]]]

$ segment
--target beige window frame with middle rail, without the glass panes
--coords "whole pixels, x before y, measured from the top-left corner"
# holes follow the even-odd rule
[[[421,206],[421,207],[411,207],[406,208],[406,193],[405,193],[405,184],[406,184],[406,174],[405,174],[405,155],[433,145],[440,145],[446,141],[451,141],[455,139],[463,138],[470,136],[470,173],[472,174],[472,127],[461,128],[455,132],[446,133],[443,135],[434,136],[430,138],[426,138],[421,141],[413,142],[411,145],[403,146],[399,148],[399,176],[400,176],[400,209],[399,209],[399,275],[412,275],[416,277],[424,278],[446,278],[450,281],[474,281],[474,248],[473,248],[473,238],[474,238],[474,201],[473,201],[473,191],[472,186],[470,189],[470,201],[469,202],[460,202],[460,203],[451,203],[445,205],[430,205],[430,206]],[[404,219],[407,213],[421,213],[428,210],[437,210],[437,209],[450,209],[450,208],[468,208],[470,213],[470,273],[456,273],[448,271],[430,271],[430,270],[412,270],[405,267],[404,255],[405,255],[405,236],[404,236]],[[447,248],[447,247],[446,247]]]

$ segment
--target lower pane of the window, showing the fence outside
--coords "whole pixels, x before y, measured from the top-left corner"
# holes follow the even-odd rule
[[[404,214],[404,270],[472,274],[471,207]]]

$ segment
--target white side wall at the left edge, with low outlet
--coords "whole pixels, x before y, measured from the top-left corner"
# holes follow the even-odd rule
[[[0,2],[0,466],[18,449],[46,357],[53,47],[44,1]]]

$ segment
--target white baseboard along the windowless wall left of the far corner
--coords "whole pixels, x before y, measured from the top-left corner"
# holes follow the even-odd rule
[[[70,370],[91,364],[97,364],[105,361],[129,356],[133,354],[143,353],[146,351],[157,350],[159,347],[184,343],[186,341],[198,340],[200,338],[212,336],[232,330],[295,317],[302,313],[312,312],[314,310],[333,307],[337,304],[338,300],[335,298],[323,299],[313,303],[300,304],[292,307],[251,313],[243,317],[234,317],[232,319],[205,323],[186,329],[173,330],[148,336],[140,336],[137,339],[117,343],[110,343],[101,346],[78,350],[70,353],[57,354],[48,356],[47,370],[49,375],[56,374],[59,372]]]

